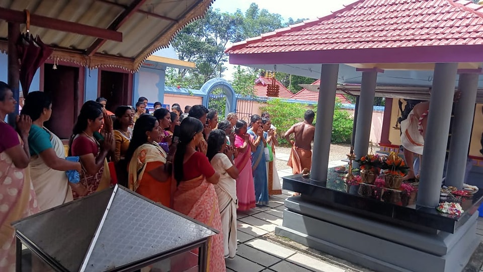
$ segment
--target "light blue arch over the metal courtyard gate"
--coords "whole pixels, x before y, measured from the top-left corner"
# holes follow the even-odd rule
[[[221,89],[223,94],[226,97],[225,102],[225,112],[223,116],[226,116],[230,112],[236,111],[236,94],[235,90],[231,87],[228,81],[222,78],[213,78],[209,81],[205,82],[203,86],[201,86],[200,91],[205,93],[206,95],[203,97],[203,106],[208,108],[209,100],[210,99],[220,99],[221,97],[215,97],[212,95],[212,92],[216,89]],[[221,115],[219,113],[219,115]]]

